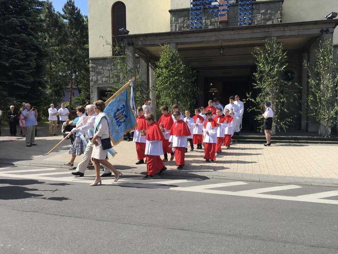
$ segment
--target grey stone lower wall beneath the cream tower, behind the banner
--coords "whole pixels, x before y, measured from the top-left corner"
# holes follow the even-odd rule
[[[90,99],[98,100],[99,89],[106,89],[114,83],[119,83],[119,78],[114,78],[118,73],[118,67],[115,65],[116,57],[93,58],[90,59],[89,77],[90,77]],[[136,58],[137,69],[139,70],[139,58]],[[126,81],[127,82],[127,81]]]

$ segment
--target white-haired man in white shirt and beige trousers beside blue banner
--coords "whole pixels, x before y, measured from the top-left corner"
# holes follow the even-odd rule
[[[90,162],[90,159],[92,157],[92,152],[93,152],[93,147],[94,147],[94,143],[92,142],[92,139],[94,136],[94,121],[96,118],[96,114],[94,112],[94,106],[92,104],[87,105],[86,111],[87,111],[87,115],[89,119],[78,130],[86,134],[86,137],[88,138],[88,143],[87,143],[86,150],[83,153],[82,160],[78,164],[76,171],[72,172],[73,175],[79,176],[79,177],[82,177],[84,175],[84,172],[86,171],[88,163]],[[112,175],[111,170],[104,167],[104,173],[101,175],[101,177],[111,176],[111,175]]]

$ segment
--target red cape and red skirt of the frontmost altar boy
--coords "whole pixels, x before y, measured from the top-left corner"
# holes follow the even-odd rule
[[[162,131],[159,129],[157,122],[153,122],[149,126],[145,136],[147,141],[163,141],[165,140]],[[146,155],[147,158],[147,175],[154,175],[163,169],[164,164],[159,155]]]

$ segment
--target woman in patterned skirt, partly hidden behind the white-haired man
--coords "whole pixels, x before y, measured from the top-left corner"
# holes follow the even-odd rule
[[[84,124],[84,120],[87,118],[86,114],[84,113],[86,110],[83,106],[78,106],[76,108],[76,114],[79,116],[79,120],[76,123],[76,128],[81,127]],[[81,132],[77,131],[76,128],[72,130],[73,135],[75,135],[75,140],[73,142],[72,147],[69,149],[68,153],[72,155],[72,158],[69,162],[64,163],[63,165],[73,167],[74,161],[77,155],[83,154],[83,142],[80,138]]]

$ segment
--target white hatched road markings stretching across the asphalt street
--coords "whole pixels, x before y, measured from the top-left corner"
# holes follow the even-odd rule
[[[2,171],[3,169],[7,169]],[[49,181],[58,181],[58,182],[71,182],[71,183],[85,183],[91,184],[95,179],[94,172],[89,172],[86,174],[86,177],[74,177],[70,175],[70,172],[64,171],[64,169],[56,168],[46,168],[46,169],[22,169],[22,170],[8,170],[10,168],[0,169],[0,177],[9,177],[9,178],[23,178],[23,179],[36,179],[36,180],[49,180]],[[60,171],[61,170],[61,171]],[[51,172],[54,171],[54,172]],[[64,176],[62,176],[64,175]],[[334,191],[324,191],[312,194],[298,195],[298,196],[287,196],[287,195],[278,195],[278,194],[265,194],[267,192],[274,191],[286,191],[293,190],[298,188],[303,188],[298,185],[283,185],[259,189],[249,189],[244,191],[223,191],[216,190],[217,188],[230,188],[241,185],[253,185],[255,183],[245,183],[241,181],[232,181],[232,182],[223,182],[217,184],[205,184],[199,185],[199,183],[207,183],[208,180],[200,178],[190,178],[190,179],[176,179],[176,180],[162,180],[154,181],[143,180],[143,176],[132,174],[133,176],[128,175],[128,178],[123,179],[123,176],[119,179],[118,182],[114,182],[114,178],[102,178],[102,185],[119,185],[126,187],[133,187],[137,185],[138,187],[144,186],[144,188],[152,189],[163,189],[169,191],[188,191],[188,192],[199,192],[206,194],[219,194],[219,195],[230,195],[230,196],[241,196],[241,197],[253,197],[253,198],[265,198],[265,199],[275,199],[275,200],[285,200],[285,201],[298,201],[298,202],[311,202],[311,203],[322,203],[322,204],[334,204],[338,205],[338,200],[334,199],[325,199],[328,197],[338,196],[338,190]],[[178,186],[180,185],[180,186]]]

